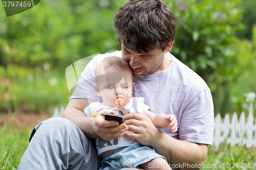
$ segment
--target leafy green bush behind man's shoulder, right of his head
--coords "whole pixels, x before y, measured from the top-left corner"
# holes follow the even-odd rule
[[[242,61],[244,56],[237,53],[240,40],[236,33],[244,28],[241,22],[244,2],[180,0],[166,3],[177,24],[171,52],[206,81],[214,98],[215,113],[225,114],[235,102],[229,88],[250,64]]]

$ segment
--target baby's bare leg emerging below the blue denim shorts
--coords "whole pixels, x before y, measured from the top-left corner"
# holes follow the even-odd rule
[[[169,164],[161,157],[152,159],[146,163],[140,164],[140,168],[150,169],[150,170],[162,170],[162,169],[172,169]]]

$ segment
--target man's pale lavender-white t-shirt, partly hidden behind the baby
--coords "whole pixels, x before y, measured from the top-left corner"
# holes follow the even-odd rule
[[[84,68],[73,98],[103,102],[93,85],[96,65],[105,57],[122,57],[121,51],[95,56]],[[143,97],[154,113],[174,114],[178,131],[159,129],[166,134],[189,142],[212,144],[214,133],[214,105],[210,89],[193,70],[170,54],[172,62],[163,71],[144,78],[134,78],[132,96]]]

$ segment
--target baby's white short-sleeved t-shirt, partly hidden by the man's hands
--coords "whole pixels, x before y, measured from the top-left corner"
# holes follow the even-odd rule
[[[129,109],[130,113],[139,113],[142,115],[146,114],[146,111],[150,108],[144,104],[143,98],[132,98],[131,101],[124,106],[125,109]],[[93,102],[88,107],[86,107],[83,112],[87,116],[90,116],[90,112],[100,111],[102,109],[111,109],[111,110],[119,110],[116,107],[103,106],[100,102]],[[127,147],[130,145],[138,144],[138,142],[134,139],[120,137],[115,140],[105,141],[99,137],[96,138],[96,149],[98,156],[103,152],[118,149],[121,147]]]

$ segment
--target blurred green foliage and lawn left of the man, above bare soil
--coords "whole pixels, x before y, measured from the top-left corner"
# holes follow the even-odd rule
[[[0,17],[0,111],[51,113],[66,105],[66,68],[120,49],[112,26],[120,3],[125,2],[41,1],[23,13]],[[51,85],[56,79],[57,85]]]

